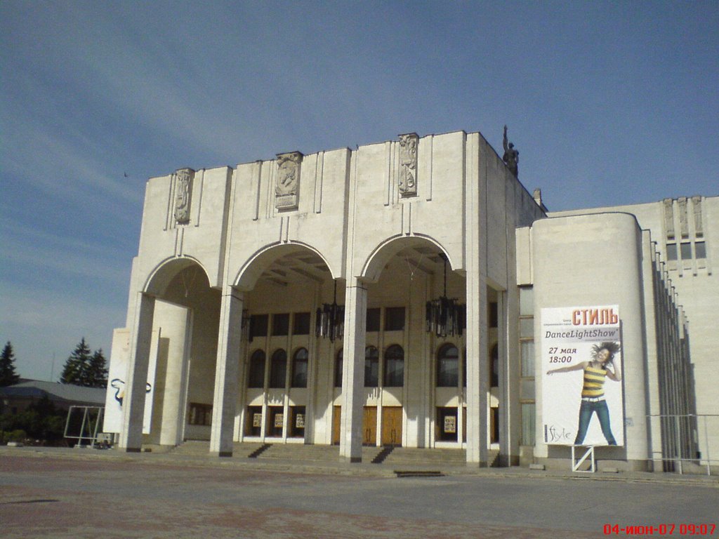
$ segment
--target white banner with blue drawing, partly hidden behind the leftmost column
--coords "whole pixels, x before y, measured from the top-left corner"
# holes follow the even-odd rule
[[[130,332],[116,329],[112,335],[112,354],[107,375],[107,393],[105,395],[105,420],[103,430],[106,433],[119,433],[122,428],[122,404],[125,396],[125,379],[130,359]],[[145,385],[145,415],[142,418],[142,433],[150,433],[152,420],[152,399],[155,396],[155,369],[157,354],[160,350],[160,331],[152,331],[150,344],[150,364],[147,367]]]

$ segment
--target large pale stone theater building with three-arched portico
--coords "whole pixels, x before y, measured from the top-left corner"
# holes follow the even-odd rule
[[[546,376],[544,336],[577,334],[547,325],[565,309],[620,345],[605,384],[617,443],[600,456],[646,469],[719,453],[719,425],[655,417],[717,413],[718,213],[694,197],[554,215],[465,132],[151,178],[105,430],[126,451],[203,439],[219,456],[262,441],[349,461],[367,444],[564,461],[542,387],[577,383]],[[579,364],[597,338],[551,357]]]

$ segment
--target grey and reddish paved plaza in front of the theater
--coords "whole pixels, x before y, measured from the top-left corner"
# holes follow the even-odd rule
[[[710,531],[717,507],[719,482],[707,476],[453,469],[397,478],[369,464],[0,448],[4,538],[581,539],[616,535],[605,525],[661,537],[641,532],[664,524],[664,536],[680,537],[682,525],[684,535],[688,525]]]

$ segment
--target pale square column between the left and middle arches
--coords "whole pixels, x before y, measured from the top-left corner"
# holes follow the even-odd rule
[[[234,415],[237,408],[239,359],[242,356],[241,292],[232,286],[225,288],[220,311],[217,363],[215,367],[215,395],[212,407],[210,453],[232,456]]]

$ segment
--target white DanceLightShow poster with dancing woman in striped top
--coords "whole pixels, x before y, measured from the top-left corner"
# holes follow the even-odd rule
[[[618,305],[541,310],[544,442],[623,446]]]

